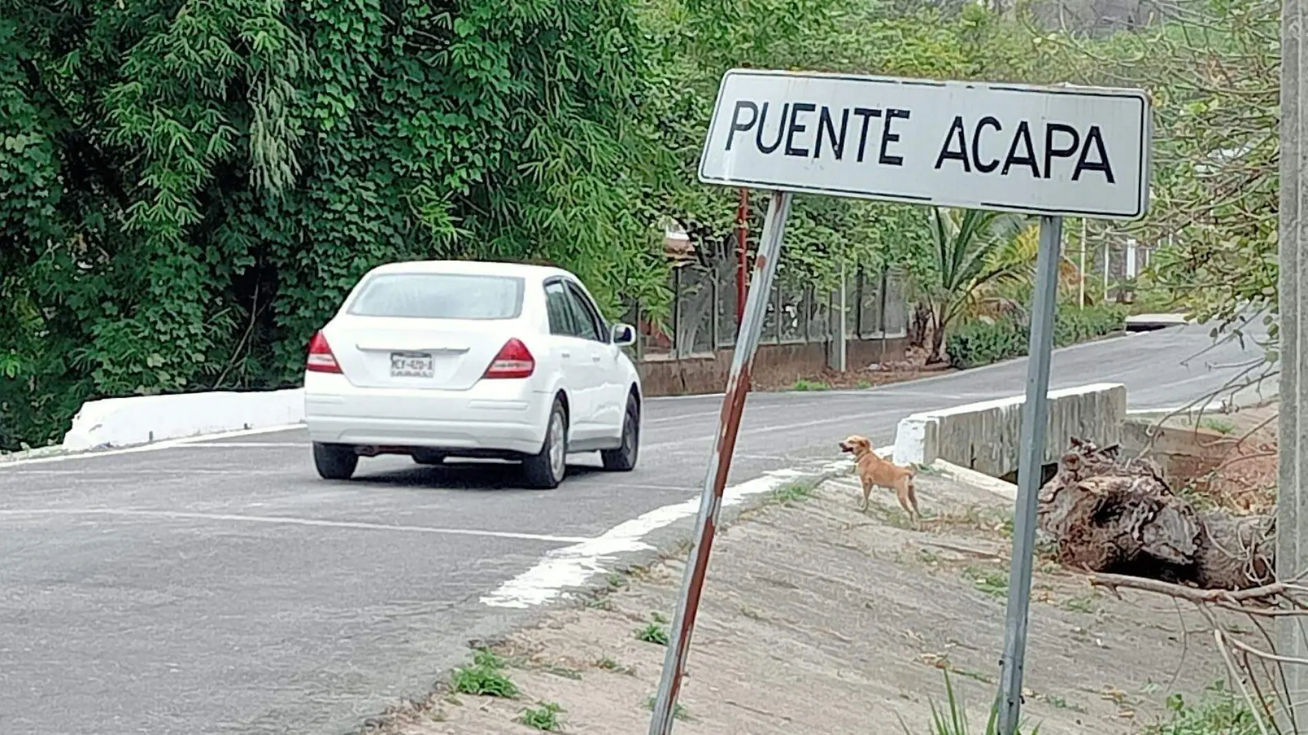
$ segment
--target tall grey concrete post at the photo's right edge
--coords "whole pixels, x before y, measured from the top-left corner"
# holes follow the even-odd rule
[[[1305,310],[1303,289],[1308,267],[1301,255],[1308,246],[1304,200],[1308,199],[1308,152],[1304,148],[1303,0],[1284,0],[1281,14],[1281,476],[1277,504],[1277,566],[1282,578],[1308,569],[1308,433],[1303,425]],[[1298,619],[1282,617],[1279,654],[1308,655],[1308,638]],[[1286,666],[1294,723],[1308,725],[1308,667]],[[1299,731],[1299,730],[1295,730]]]

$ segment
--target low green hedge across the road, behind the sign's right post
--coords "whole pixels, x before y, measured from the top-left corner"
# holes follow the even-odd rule
[[[1083,343],[1120,332],[1126,309],[1110,303],[1078,309],[1059,305],[1054,319],[1054,347]],[[1027,353],[1031,331],[1023,315],[1001,319],[973,319],[950,333],[944,350],[955,368],[980,368]]]

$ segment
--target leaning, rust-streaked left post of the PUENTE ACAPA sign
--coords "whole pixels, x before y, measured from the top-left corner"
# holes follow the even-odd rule
[[[713,548],[713,535],[718,527],[722,492],[726,489],[727,473],[731,471],[731,453],[735,451],[736,432],[740,429],[740,413],[744,411],[744,399],[749,394],[749,369],[753,365],[753,354],[759,349],[763,319],[768,311],[768,296],[772,293],[772,280],[777,275],[781,237],[786,230],[786,217],[790,214],[790,197],[789,192],[772,192],[768,217],[763,222],[759,252],[753,259],[749,296],[746,299],[744,319],[736,335],[731,373],[727,375],[727,390],[722,396],[717,442],[704,473],[700,515],[695,522],[691,555],[685,562],[685,574],[681,577],[681,592],[676,602],[676,615],[672,619],[667,655],[663,658],[663,676],[659,679],[658,696],[654,700],[650,735],[670,735],[672,732],[672,713],[676,710],[676,696],[681,689],[681,677],[685,674],[685,655],[691,647],[691,633],[695,630],[695,615],[700,609],[700,592],[704,590],[709,552]]]

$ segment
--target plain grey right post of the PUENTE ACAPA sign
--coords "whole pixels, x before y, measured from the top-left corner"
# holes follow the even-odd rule
[[[1027,400],[1022,404],[1022,455],[1018,458],[1018,504],[1012,511],[1012,561],[1008,609],[999,662],[999,734],[1018,731],[1022,717],[1022,668],[1027,655],[1031,608],[1031,564],[1036,548],[1036,500],[1045,464],[1045,424],[1049,417],[1049,364],[1058,303],[1058,260],[1062,217],[1040,218],[1040,254],[1031,299],[1031,348],[1027,354]]]

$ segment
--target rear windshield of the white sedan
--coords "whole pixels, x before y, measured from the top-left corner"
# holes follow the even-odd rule
[[[517,319],[522,279],[467,273],[382,273],[349,306],[356,316]]]

